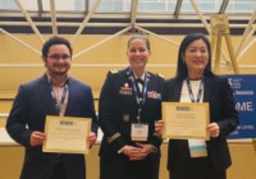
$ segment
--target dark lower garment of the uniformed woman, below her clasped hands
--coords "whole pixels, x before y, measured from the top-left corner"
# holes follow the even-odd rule
[[[130,161],[126,156],[100,158],[100,179],[159,179],[160,158]]]

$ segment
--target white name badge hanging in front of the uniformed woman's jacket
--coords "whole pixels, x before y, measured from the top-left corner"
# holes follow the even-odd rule
[[[147,141],[148,124],[133,123],[131,135],[132,141]]]

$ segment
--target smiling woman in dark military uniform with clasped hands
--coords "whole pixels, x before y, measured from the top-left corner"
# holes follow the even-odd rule
[[[164,79],[146,70],[150,45],[143,35],[128,41],[130,66],[110,70],[99,98],[100,179],[158,179]]]

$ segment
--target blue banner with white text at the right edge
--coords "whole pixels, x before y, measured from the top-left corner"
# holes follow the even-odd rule
[[[240,124],[228,139],[256,138],[256,75],[226,75],[232,86]]]

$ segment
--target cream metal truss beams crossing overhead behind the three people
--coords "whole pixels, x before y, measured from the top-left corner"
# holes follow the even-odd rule
[[[12,33],[15,33],[15,27],[29,27],[32,29],[42,44],[45,43],[42,30],[43,27],[51,29],[52,35],[58,35],[58,29],[60,28],[74,28],[73,32],[68,32],[73,35],[71,39],[71,45],[74,45],[76,40],[81,34],[93,34],[92,31],[96,31],[96,34],[109,34],[109,37],[101,42],[92,45],[83,51],[75,54],[73,58],[78,58],[89,50],[101,45],[110,39],[130,32],[139,32],[153,35],[161,40],[167,41],[173,45],[179,45],[179,43],[164,37],[162,34],[180,34],[180,30],[183,30],[184,34],[200,30],[211,36],[210,18],[211,14],[202,13],[195,2],[195,0],[189,0],[191,5],[195,9],[195,14],[182,14],[181,6],[183,0],[177,0],[174,12],[172,14],[167,13],[142,13],[138,12],[139,0],[131,0],[132,6],[130,12],[123,13],[98,13],[96,12],[97,6],[101,3],[101,0],[95,0],[95,4],[89,9],[89,0],[85,1],[84,12],[61,12],[56,10],[56,0],[50,1],[50,11],[44,11],[42,7],[42,0],[38,1],[38,11],[27,11],[20,3],[20,0],[15,0],[19,11],[0,11],[0,32],[8,35],[12,39],[16,40],[19,44],[25,45],[32,52],[41,56],[41,52],[34,49],[31,45],[27,45],[19,40]],[[102,0],[104,1],[104,0]],[[222,6],[219,9],[219,14],[224,14],[225,9],[229,3],[229,0],[223,0]],[[25,18],[25,19],[24,19]],[[235,34],[240,33],[242,38],[235,51],[236,58],[239,60],[256,41],[254,38],[250,44],[249,41],[256,31],[256,9],[252,14],[229,14],[230,30]],[[89,31],[91,28],[91,31]],[[102,28],[110,28],[109,33],[100,31]],[[86,32],[86,29],[89,29]],[[171,33],[167,33],[171,31]],[[172,32],[173,31],[173,32]],[[177,33],[175,33],[177,32]],[[65,32],[64,32],[65,33]],[[67,34],[67,33],[66,33]],[[224,50],[221,51],[224,60],[221,63],[228,66],[230,59],[225,55]],[[16,64],[16,66],[19,64]],[[83,65],[83,67],[106,67],[107,64],[95,64],[95,65]],[[116,64],[118,65],[118,64]],[[10,67],[12,65],[0,64],[0,67]],[[113,65],[111,65],[113,66]],[[21,66],[20,66],[21,67]],[[161,67],[160,65],[154,65],[152,67]],[[162,68],[173,68],[175,64],[164,65]],[[239,66],[239,68],[251,68],[251,66]],[[256,67],[255,67],[256,68]]]

